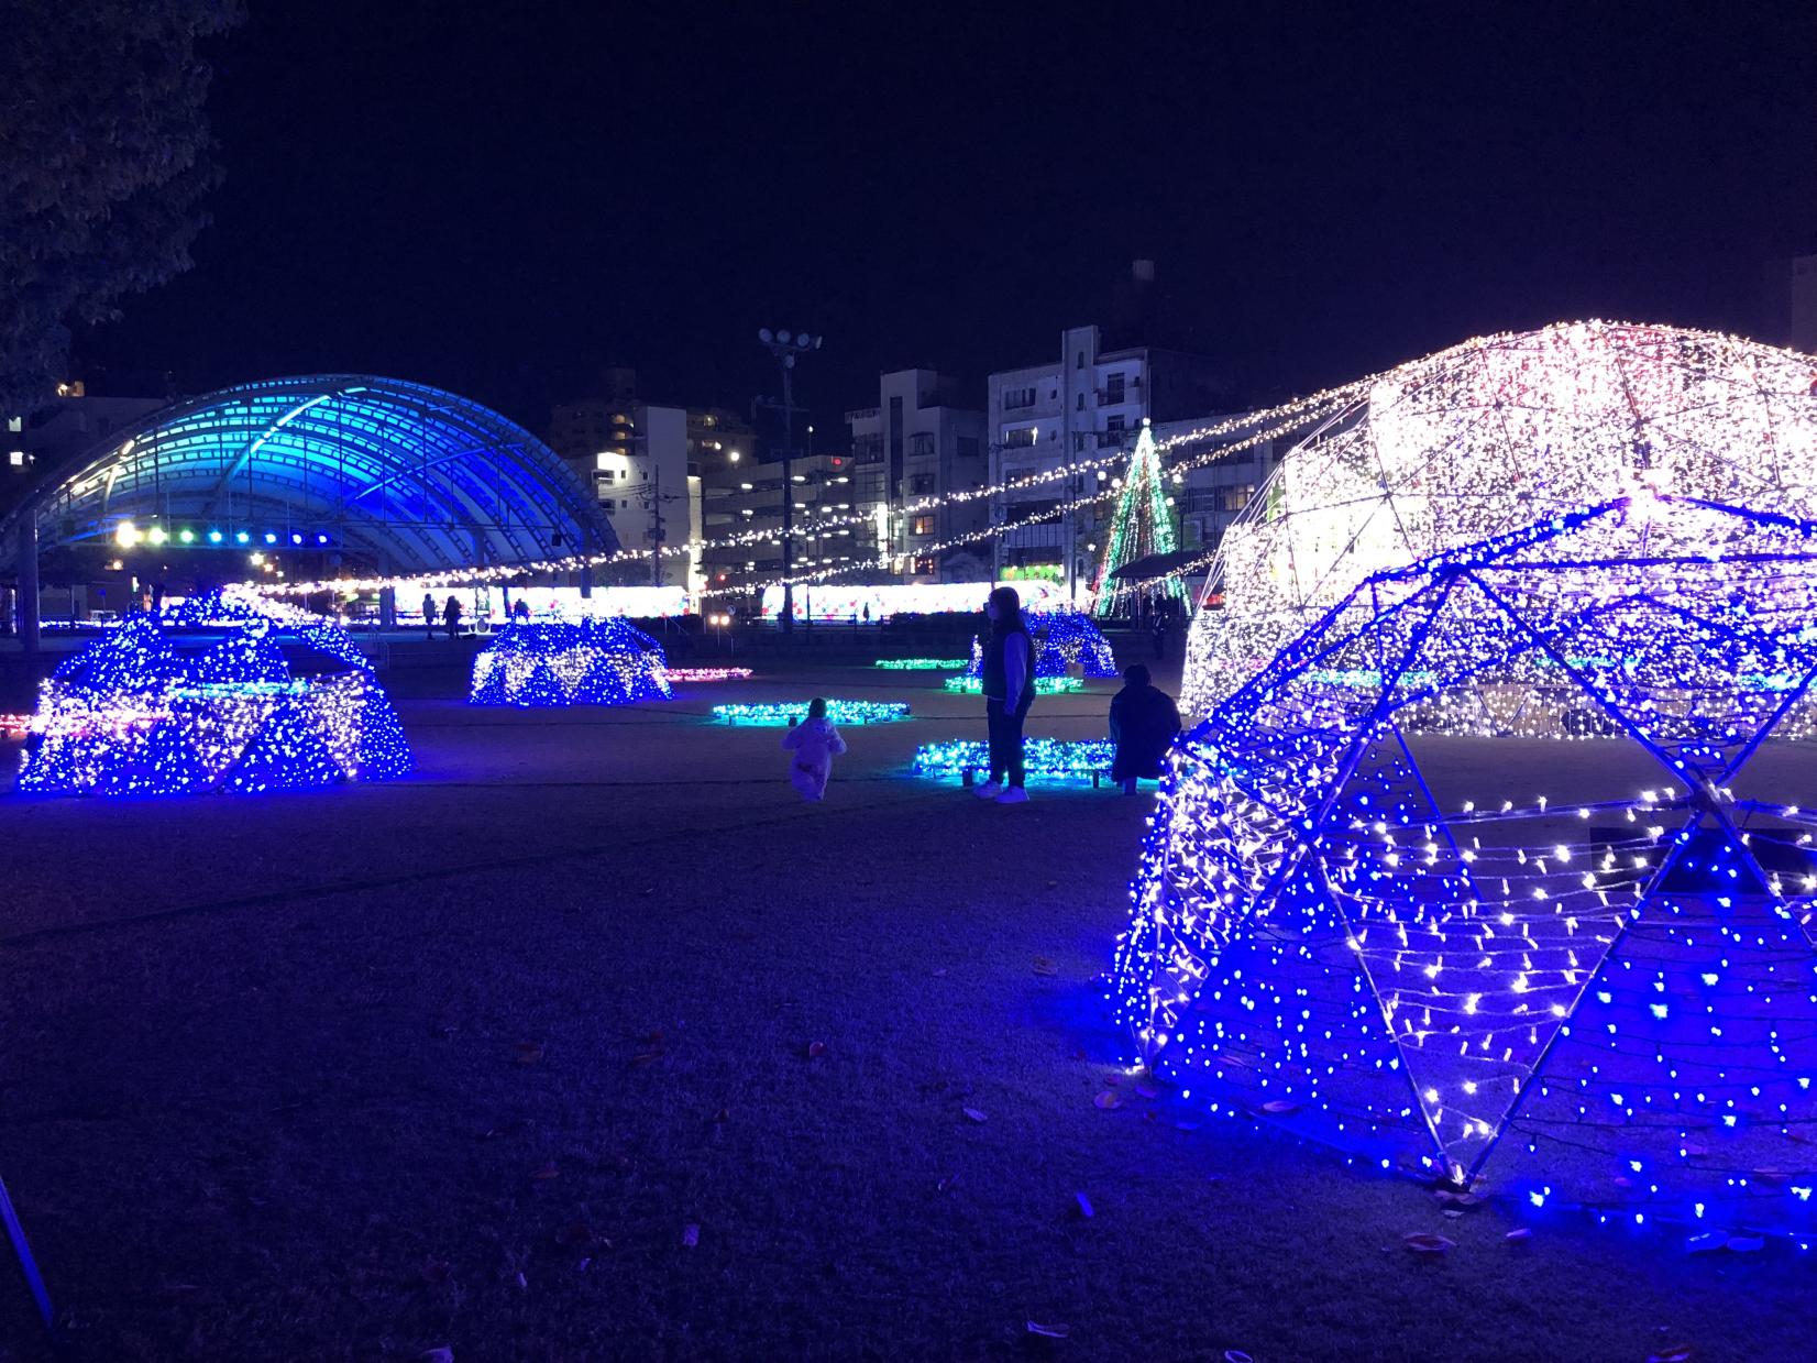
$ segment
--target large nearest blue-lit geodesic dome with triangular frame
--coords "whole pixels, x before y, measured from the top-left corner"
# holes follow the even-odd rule
[[[1681,498],[1372,574],[1176,747],[1119,1021],[1385,1167],[1808,1236],[1813,620],[1817,522]],[[1503,687],[1583,741],[1432,732]]]

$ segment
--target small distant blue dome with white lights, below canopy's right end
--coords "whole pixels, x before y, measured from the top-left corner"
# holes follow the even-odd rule
[[[636,625],[589,616],[507,625],[472,660],[474,705],[625,705],[669,700],[663,647]]]

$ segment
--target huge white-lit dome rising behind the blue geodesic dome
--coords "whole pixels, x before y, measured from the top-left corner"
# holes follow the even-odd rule
[[[1181,705],[1208,711],[1379,569],[1643,487],[1817,514],[1817,360],[1574,322],[1383,374],[1225,532]]]

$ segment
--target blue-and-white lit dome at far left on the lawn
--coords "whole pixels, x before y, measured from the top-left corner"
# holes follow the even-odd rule
[[[409,769],[398,716],[338,625],[211,592],[129,616],[44,682],[18,789],[267,791]]]

